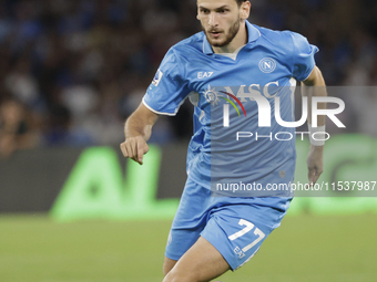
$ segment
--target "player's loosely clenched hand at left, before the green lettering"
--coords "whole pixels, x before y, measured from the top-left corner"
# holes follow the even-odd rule
[[[143,156],[150,150],[142,136],[129,137],[121,144],[123,156],[143,165]]]

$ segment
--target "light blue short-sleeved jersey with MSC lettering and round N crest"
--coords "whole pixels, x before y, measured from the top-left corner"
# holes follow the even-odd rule
[[[284,122],[295,121],[296,80],[308,77],[318,49],[291,31],[246,27],[248,42],[235,58],[215,54],[204,32],[172,46],[143,103],[165,115],[187,97],[195,105],[187,154],[195,182],[220,196],[288,196],[271,185],[293,180],[295,129],[276,122],[275,107]],[[254,188],[233,194],[232,184]]]

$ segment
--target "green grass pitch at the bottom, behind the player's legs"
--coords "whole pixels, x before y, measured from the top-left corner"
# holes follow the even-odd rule
[[[294,216],[223,282],[374,282],[377,216]],[[1,282],[156,282],[170,221],[0,217]]]

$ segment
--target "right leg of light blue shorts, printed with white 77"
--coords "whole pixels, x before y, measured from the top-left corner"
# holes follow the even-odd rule
[[[212,212],[201,236],[217,249],[234,271],[259,250],[284,212],[253,205],[233,205]],[[278,219],[276,219],[278,218]]]

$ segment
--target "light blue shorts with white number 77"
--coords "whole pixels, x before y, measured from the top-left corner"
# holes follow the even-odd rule
[[[165,255],[179,260],[202,236],[234,271],[247,262],[281,224],[291,200],[212,197],[208,189],[187,179]]]

